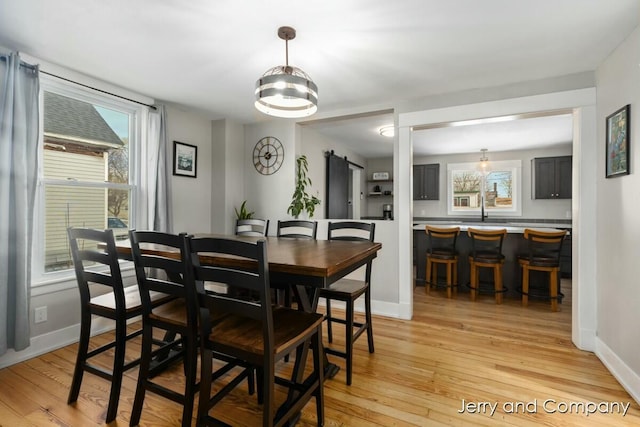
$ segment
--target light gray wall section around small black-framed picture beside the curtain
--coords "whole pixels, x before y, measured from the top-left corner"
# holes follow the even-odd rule
[[[180,107],[167,106],[167,158],[173,162],[173,141],[198,147],[196,178],[172,176],[173,231],[211,231],[211,121]],[[173,164],[173,163],[172,163]]]

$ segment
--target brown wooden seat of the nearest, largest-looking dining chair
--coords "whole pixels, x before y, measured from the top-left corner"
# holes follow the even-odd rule
[[[306,313],[286,307],[273,308],[274,354],[282,354],[311,337],[323,319],[324,316],[319,313]],[[261,356],[263,338],[261,322],[229,314],[216,322],[209,335],[209,342],[214,350],[225,354],[239,356],[239,349],[247,354]]]

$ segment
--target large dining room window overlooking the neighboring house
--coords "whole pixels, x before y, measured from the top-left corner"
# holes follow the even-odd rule
[[[141,108],[42,81],[41,170],[34,278],[73,268],[66,230],[89,227],[127,237],[135,218]]]

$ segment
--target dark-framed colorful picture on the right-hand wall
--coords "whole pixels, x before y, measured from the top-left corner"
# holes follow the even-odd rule
[[[607,116],[606,177],[629,175],[629,105]]]

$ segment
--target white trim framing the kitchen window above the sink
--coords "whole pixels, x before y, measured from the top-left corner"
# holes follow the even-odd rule
[[[522,216],[522,160],[500,160],[489,162],[493,170],[511,170],[512,173],[512,207],[491,208],[491,216]],[[454,216],[479,216],[481,208],[456,209],[453,206],[453,172],[477,170],[477,162],[447,164],[447,214]],[[487,211],[485,210],[485,213]]]

